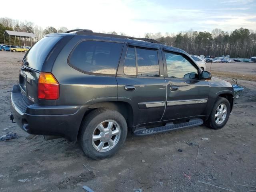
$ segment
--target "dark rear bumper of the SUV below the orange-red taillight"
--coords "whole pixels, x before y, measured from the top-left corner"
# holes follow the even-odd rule
[[[62,136],[75,141],[87,106],[39,106],[25,101],[19,85],[13,86],[11,113],[29,134]]]

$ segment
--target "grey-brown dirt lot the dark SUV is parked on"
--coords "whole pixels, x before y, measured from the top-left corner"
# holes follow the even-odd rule
[[[221,130],[199,126],[143,138],[129,134],[118,154],[95,161],[65,139],[26,140],[26,133],[8,120],[10,91],[18,84],[23,56],[0,52],[0,132],[9,127],[6,131],[18,135],[12,141],[25,141],[0,142],[1,192],[83,192],[83,185],[95,192],[256,190],[240,186],[256,186],[255,81],[239,80],[245,90]],[[245,65],[243,73],[256,75],[256,64],[214,64],[212,71],[240,73]]]

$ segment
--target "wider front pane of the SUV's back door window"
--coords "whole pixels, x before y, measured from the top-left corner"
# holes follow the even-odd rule
[[[136,48],[138,76],[159,77],[157,50]]]

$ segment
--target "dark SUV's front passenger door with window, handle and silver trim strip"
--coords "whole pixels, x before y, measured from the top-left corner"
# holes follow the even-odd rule
[[[200,80],[200,69],[182,52],[164,48],[167,104],[162,120],[204,115],[209,96],[207,80]]]

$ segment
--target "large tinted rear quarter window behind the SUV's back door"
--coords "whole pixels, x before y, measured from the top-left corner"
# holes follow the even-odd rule
[[[122,43],[83,41],[72,52],[69,62],[76,68],[100,74],[116,74]]]

